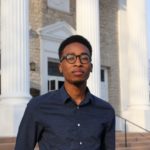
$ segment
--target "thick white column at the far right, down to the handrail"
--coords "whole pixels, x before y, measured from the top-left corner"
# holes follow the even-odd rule
[[[127,0],[129,31],[128,119],[150,129],[146,0]]]

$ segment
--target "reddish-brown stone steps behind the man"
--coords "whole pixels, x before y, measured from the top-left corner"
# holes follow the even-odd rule
[[[116,150],[150,150],[150,133],[128,133],[127,140],[128,147],[125,147],[124,133],[116,132]],[[15,142],[15,137],[0,137],[0,150],[13,150]]]

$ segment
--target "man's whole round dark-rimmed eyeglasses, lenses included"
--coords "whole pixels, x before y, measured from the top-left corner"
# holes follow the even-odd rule
[[[91,58],[88,54],[81,54],[81,55],[67,54],[67,55],[61,57],[60,62],[62,62],[64,59],[66,59],[66,61],[69,64],[74,64],[77,60],[77,57],[79,57],[81,64],[87,64],[91,61]]]

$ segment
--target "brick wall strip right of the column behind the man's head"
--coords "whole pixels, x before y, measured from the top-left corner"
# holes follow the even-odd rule
[[[100,1],[101,65],[108,67],[109,101],[116,111],[120,108],[118,55],[118,0]]]

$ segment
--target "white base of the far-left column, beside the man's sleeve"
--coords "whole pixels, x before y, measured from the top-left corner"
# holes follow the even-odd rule
[[[0,137],[16,137],[28,99],[0,101]]]

